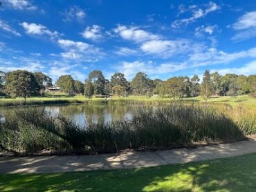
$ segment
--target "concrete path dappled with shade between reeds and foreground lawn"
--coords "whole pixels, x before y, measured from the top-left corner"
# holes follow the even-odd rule
[[[256,140],[155,152],[104,155],[0,157],[0,173],[57,173],[179,164],[256,153]]]

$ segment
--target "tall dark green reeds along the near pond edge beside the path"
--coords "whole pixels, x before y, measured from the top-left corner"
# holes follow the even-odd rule
[[[0,123],[0,144],[25,153],[45,148],[105,153],[127,148],[170,148],[192,142],[242,140],[244,133],[254,133],[255,120],[237,120],[234,119],[237,114],[244,111],[234,113],[228,106],[140,106],[130,120],[79,126],[73,119],[32,107],[6,115]]]

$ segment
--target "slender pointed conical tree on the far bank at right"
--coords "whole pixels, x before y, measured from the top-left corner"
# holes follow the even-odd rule
[[[201,96],[207,102],[207,100],[210,98],[210,96],[213,93],[213,85],[212,85],[212,80],[210,78],[210,71],[209,70],[205,70],[200,90],[201,90]]]

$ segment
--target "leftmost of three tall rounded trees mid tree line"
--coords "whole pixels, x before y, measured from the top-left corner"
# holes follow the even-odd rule
[[[100,70],[93,70],[89,74],[88,81],[91,81],[94,95],[104,95],[105,78]]]

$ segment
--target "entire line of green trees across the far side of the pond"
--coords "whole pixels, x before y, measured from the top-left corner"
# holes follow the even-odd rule
[[[232,96],[250,94],[256,96],[256,75],[235,75],[210,73],[205,70],[203,79],[194,75],[189,77],[171,77],[166,81],[150,79],[145,73],[139,72],[131,81],[127,81],[123,73],[114,73],[110,81],[100,70],[93,70],[84,83],[73,79],[71,75],[62,75],[57,79],[56,86],[68,94],[93,95],[160,95],[161,97],[197,97],[206,100],[212,95]],[[30,73],[26,70],[15,70],[8,73],[0,71],[0,95],[24,97],[43,95],[47,87],[53,86],[52,79],[42,72]]]

